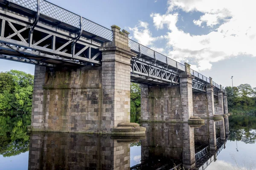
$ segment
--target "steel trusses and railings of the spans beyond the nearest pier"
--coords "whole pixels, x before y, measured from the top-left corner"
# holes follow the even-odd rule
[[[131,48],[131,51],[137,53],[138,56],[140,56],[136,59],[132,59],[133,61],[131,62],[131,73],[142,76],[143,79],[141,81],[144,82],[145,78],[147,77],[146,74],[148,74],[148,79],[151,79],[151,82],[152,79],[157,79],[168,82],[169,84],[179,84],[178,75],[181,71],[185,71],[185,65],[173,59],[170,59],[169,57],[160,54],[148,47],[145,47],[138,42],[135,42],[134,40],[129,39],[128,45]],[[148,68],[145,64],[143,65],[143,63],[147,63],[150,67]],[[166,72],[168,72],[169,74],[167,75]],[[210,79],[192,69],[190,69],[190,72],[191,75],[195,77],[192,81],[192,88],[196,91],[206,92],[206,85],[210,83]],[[167,75],[167,78],[163,78],[160,75]],[[174,77],[170,79],[170,75],[173,75]],[[177,75],[177,78],[175,77],[175,75]],[[136,80],[137,79],[138,77],[136,77]],[[216,83],[214,83],[213,85],[215,86],[215,88],[220,87]]]

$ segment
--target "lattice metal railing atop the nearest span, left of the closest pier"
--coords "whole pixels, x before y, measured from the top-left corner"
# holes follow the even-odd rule
[[[102,37],[106,40],[113,40],[112,30],[105,28],[97,23],[94,23],[90,20],[85,19],[73,12],[67,11],[64,8],[56,6],[46,0],[9,0],[12,3],[20,5],[24,8],[28,8],[32,11],[37,11],[38,2],[40,6],[40,15],[45,15],[47,17],[59,20],[63,23],[66,23],[70,26],[76,28],[82,28],[82,30],[87,31],[96,36]]]

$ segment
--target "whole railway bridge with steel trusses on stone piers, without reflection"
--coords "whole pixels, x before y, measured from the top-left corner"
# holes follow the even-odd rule
[[[130,122],[130,83],[142,121],[227,116],[212,78],[46,0],[0,0],[0,58],[35,65],[32,130],[145,134]]]

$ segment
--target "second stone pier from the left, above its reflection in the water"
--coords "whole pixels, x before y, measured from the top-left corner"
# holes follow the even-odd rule
[[[190,65],[181,72],[180,85],[141,85],[141,121],[204,123],[193,118]],[[202,103],[204,105],[204,103]]]

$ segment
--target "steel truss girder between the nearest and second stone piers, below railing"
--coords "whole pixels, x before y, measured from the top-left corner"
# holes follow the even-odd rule
[[[131,74],[138,75],[141,80],[138,82],[145,82],[146,79],[157,80],[158,82],[163,82],[163,84],[180,84],[179,75],[172,70],[167,70],[157,67],[155,64],[150,65],[150,61],[146,62],[145,59],[131,60]],[[148,81],[146,81],[148,82]],[[154,84],[154,81],[152,81]]]

